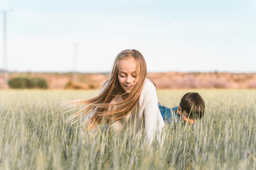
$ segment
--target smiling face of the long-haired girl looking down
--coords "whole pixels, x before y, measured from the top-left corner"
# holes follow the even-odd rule
[[[131,92],[136,80],[136,61],[134,57],[125,58],[118,63],[118,80],[125,92]]]

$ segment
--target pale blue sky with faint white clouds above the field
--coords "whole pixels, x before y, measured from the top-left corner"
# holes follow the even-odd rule
[[[256,1],[0,0],[8,69],[110,72],[137,49],[149,72],[256,72]],[[0,67],[3,67],[0,13]]]

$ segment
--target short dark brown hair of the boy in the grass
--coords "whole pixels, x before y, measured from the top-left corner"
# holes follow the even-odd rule
[[[188,92],[181,98],[181,113],[186,111],[188,118],[201,119],[203,117],[205,103],[196,92]]]

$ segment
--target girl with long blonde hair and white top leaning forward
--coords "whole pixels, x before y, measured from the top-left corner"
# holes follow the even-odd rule
[[[135,132],[143,124],[146,139],[151,142],[154,135],[161,132],[164,120],[159,111],[156,88],[146,74],[142,53],[138,50],[120,52],[100,94],[88,100],[72,101],[82,109],[70,115],[67,122],[73,124],[85,118],[87,129],[105,123],[114,132],[121,132],[128,122]]]

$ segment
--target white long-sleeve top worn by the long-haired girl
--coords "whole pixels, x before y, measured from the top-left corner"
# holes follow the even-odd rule
[[[105,89],[105,86],[103,86],[102,89]],[[122,97],[116,96],[111,103],[119,101],[122,101]],[[110,106],[109,109],[112,110],[114,108]],[[114,132],[121,132],[125,123],[130,125],[130,130],[135,130],[135,132],[137,132],[144,123],[146,140],[148,142],[152,142],[154,135],[160,134],[161,129],[164,127],[164,120],[159,111],[156,88],[149,79],[145,79],[144,81],[137,106],[134,107],[129,115],[111,124],[109,127],[112,128]]]

